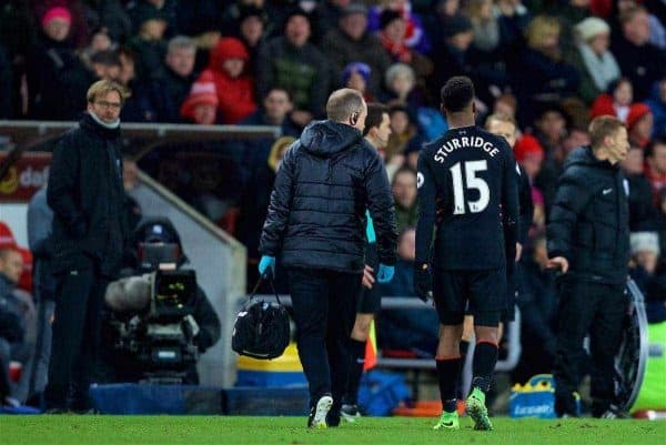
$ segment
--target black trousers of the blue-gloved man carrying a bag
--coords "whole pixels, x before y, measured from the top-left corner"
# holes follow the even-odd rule
[[[361,274],[293,267],[289,271],[296,343],[313,406],[326,393],[339,409],[350,373],[349,342]]]

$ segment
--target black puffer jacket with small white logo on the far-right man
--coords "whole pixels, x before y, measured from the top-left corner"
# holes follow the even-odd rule
[[[547,227],[548,256],[569,262],[567,275],[622,284],[629,261],[628,183],[617,165],[578,148],[566,159]]]

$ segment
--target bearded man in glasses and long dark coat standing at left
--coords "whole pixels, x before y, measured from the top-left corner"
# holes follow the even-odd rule
[[[47,409],[87,412],[102,296],[121,265],[123,230],[120,109],[124,89],[101,80],[88,112],[53,151],[47,200],[53,210],[56,313]],[[68,403],[68,395],[71,402]]]

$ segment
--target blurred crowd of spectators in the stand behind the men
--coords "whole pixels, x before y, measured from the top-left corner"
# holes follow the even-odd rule
[[[535,218],[517,301],[523,360],[516,378],[522,381],[552,368],[557,297],[554,275],[546,271],[544,227],[564,159],[589,143],[592,118],[615,115],[626,123],[632,143],[622,164],[632,276],[646,295],[650,322],[666,320],[663,0],[0,4],[0,119],[78,120],[88,87],[113,79],[131,91],[123,122],[281,127],[276,140],[193,142],[139,160],[140,168],[248,246],[251,284],[282,155],[309,122],[324,118],[329,93],[346,85],[369,102],[390,105],[392,135],[381,154],[402,234],[396,282],[383,292],[413,295],[416,159],[423,142],[446,130],[438,111],[441,85],[452,75],[472,78],[480,124],[491,113],[516,119],[515,158],[533,185]],[[9,262],[0,260],[0,266]],[[16,281],[6,269],[0,267],[2,284]],[[3,284],[1,292],[6,287],[12,285]],[[436,321],[426,320],[408,311],[400,317],[387,313],[380,323],[395,328],[384,330],[384,337],[380,330],[380,337],[416,350],[436,342]]]

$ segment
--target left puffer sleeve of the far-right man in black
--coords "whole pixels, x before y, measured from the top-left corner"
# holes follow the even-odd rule
[[[569,169],[559,178],[547,226],[549,257],[564,256],[571,261],[576,221],[592,198],[593,188],[589,185],[579,169]]]

